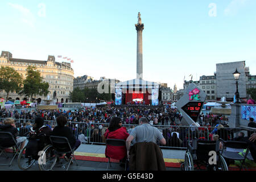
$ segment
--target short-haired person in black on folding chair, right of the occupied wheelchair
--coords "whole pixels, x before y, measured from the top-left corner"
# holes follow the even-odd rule
[[[65,126],[68,122],[67,118],[64,115],[60,115],[59,117],[56,118],[56,121],[57,121],[57,126],[54,127],[52,131],[52,135],[57,137],[66,137],[68,139],[69,144],[71,145],[71,148],[75,148],[75,150],[77,150],[81,142],[80,140],[76,140],[72,129],[68,126]],[[71,152],[68,152],[64,156],[65,160],[72,158],[71,154],[72,154]]]

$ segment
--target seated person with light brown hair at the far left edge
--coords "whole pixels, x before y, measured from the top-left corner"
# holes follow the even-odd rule
[[[4,125],[0,125],[0,131],[10,132],[11,134],[13,134],[15,142],[18,145],[20,144],[20,150],[22,150],[22,148],[25,145],[25,142],[26,142],[27,138],[26,137],[18,137],[19,131],[18,131],[18,129],[16,129],[16,126],[15,126],[15,123],[14,123],[14,119],[13,118],[7,118],[7,119],[5,119],[5,121],[3,121],[3,124]],[[2,141],[2,142],[6,146],[11,144],[11,143],[13,143],[13,141]]]

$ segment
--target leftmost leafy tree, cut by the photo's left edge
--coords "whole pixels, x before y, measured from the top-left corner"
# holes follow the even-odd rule
[[[5,90],[7,93],[6,101],[9,98],[10,92],[20,92],[22,90],[22,76],[11,67],[0,68],[0,90]]]

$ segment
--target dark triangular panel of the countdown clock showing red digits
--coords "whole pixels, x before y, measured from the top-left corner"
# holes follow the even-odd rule
[[[196,122],[203,104],[204,102],[188,102],[188,104],[184,105],[181,109],[183,109],[185,113],[187,113],[189,117]]]

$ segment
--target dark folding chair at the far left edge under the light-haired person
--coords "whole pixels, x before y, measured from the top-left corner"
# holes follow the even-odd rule
[[[6,156],[6,159],[9,158],[9,156],[6,154],[5,149],[10,147],[16,147],[16,151],[13,155],[13,158],[11,159],[11,162],[9,164],[0,164],[1,166],[11,166],[13,163],[14,158],[16,155],[20,152],[20,147],[18,146],[17,142],[15,141],[13,134],[10,132],[3,132],[0,131],[0,156],[4,154]]]

